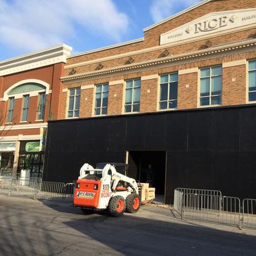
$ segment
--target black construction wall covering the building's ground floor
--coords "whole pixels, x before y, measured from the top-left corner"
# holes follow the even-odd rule
[[[87,162],[166,151],[166,203],[176,187],[256,198],[256,107],[169,111],[49,122],[44,179],[70,182]]]

